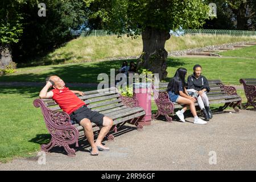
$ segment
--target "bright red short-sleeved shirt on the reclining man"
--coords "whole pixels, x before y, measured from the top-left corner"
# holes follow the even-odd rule
[[[59,104],[60,108],[68,114],[79,109],[81,106],[86,105],[84,101],[80,100],[75,93],[71,92],[69,88],[52,89],[53,100]]]

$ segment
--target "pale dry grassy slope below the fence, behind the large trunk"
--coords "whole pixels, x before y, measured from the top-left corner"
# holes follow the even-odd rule
[[[181,49],[205,47],[210,45],[231,42],[255,40],[256,37],[227,36],[227,35],[185,35],[172,37],[166,42],[166,50],[176,51]],[[90,36],[74,39],[65,46],[49,53],[46,57],[31,61],[32,65],[49,65],[64,63],[81,63],[86,61],[104,60],[113,57],[139,56],[142,53],[142,39],[117,38],[117,36]]]

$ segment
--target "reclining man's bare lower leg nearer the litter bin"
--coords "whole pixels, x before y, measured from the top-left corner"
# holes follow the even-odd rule
[[[109,150],[109,147],[104,147],[104,145],[101,144],[102,140],[106,136],[106,134],[109,133],[109,130],[113,126],[113,120],[109,117],[104,116],[103,118],[103,127],[101,128],[100,133],[98,134],[98,138],[95,142],[96,146],[99,146],[105,150]]]

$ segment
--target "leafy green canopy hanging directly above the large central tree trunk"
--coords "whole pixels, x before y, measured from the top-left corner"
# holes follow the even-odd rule
[[[209,18],[209,7],[201,0],[95,0],[86,1],[89,7],[102,2],[92,16],[100,16],[105,28],[115,34],[137,36],[147,27],[170,31],[180,26],[196,28]],[[111,3],[110,3],[111,2]],[[104,7],[104,9],[102,9]]]

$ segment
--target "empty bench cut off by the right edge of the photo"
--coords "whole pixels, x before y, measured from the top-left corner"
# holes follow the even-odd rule
[[[256,109],[256,78],[241,78],[240,83],[243,84],[247,103],[244,108],[253,106]]]

